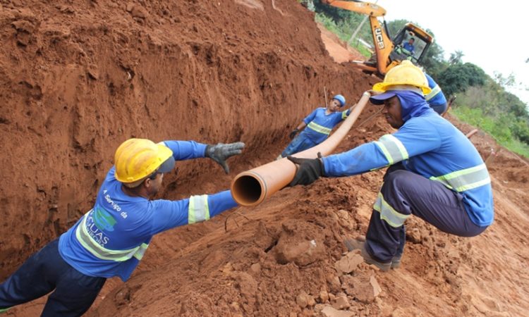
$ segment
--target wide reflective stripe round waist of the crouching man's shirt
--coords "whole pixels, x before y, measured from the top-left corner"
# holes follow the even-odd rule
[[[444,186],[449,189],[454,189],[456,192],[464,192],[468,189],[490,184],[490,175],[487,171],[487,166],[483,163],[473,168],[456,170],[446,175],[438,177],[432,176],[430,180],[442,182]]]

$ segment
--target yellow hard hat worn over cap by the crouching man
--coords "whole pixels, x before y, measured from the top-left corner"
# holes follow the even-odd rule
[[[373,90],[375,92],[387,92],[395,89],[406,90],[406,87],[403,86],[418,87],[425,95],[432,92],[432,89],[428,87],[425,73],[413,65],[411,61],[401,61],[399,65],[391,68],[384,77],[384,82],[373,85]]]

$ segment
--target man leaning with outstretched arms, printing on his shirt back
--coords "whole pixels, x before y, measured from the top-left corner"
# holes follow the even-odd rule
[[[242,142],[123,142],[94,207],[0,285],[0,309],[5,311],[54,291],[42,316],[81,316],[107,278],[130,278],[154,235],[208,220],[236,206],[229,190],[178,201],[151,200],[175,160],[209,157],[227,173],[226,159],[241,154],[243,147]]]

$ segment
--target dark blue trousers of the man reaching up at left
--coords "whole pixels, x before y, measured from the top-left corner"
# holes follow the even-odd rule
[[[95,301],[106,278],[75,270],[59,254],[59,239],[33,254],[0,285],[0,309],[48,294],[42,316],[81,316]]]

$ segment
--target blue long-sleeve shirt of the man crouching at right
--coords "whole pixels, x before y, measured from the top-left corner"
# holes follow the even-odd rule
[[[463,196],[463,203],[473,223],[479,226],[492,223],[492,187],[480,154],[461,131],[437,116],[430,108],[423,108],[420,115],[409,118],[397,132],[384,135],[377,142],[325,157],[324,174],[357,175],[399,161],[403,161],[407,170],[425,178],[439,178],[456,171],[479,167],[480,173],[486,173],[483,184],[458,192]]]

